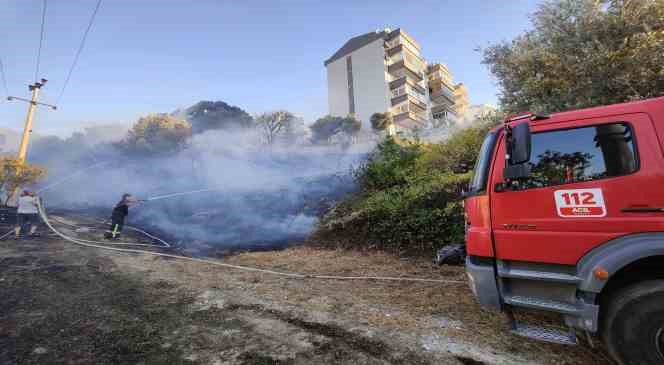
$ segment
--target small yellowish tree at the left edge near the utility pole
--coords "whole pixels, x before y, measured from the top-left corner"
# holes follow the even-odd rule
[[[22,163],[17,158],[0,157],[0,191],[3,192],[7,205],[12,193],[21,186],[34,184],[46,176],[46,169],[28,163]]]

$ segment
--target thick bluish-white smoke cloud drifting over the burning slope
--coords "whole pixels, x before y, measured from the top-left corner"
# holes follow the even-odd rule
[[[106,218],[123,193],[157,197],[130,208],[128,223],[210,254],[305,238],[335,200],[356,188],[352,168],[372,147],[268,146],[253,130],[212,130],[174,155],[131,157],[109,144],[82,143],[62,156],[45,148],[33,160],[49,168],[41,184],[48,207]]]

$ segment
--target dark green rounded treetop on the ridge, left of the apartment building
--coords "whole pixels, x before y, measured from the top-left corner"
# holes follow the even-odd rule
[[[251,128],[254,125],[251,115],[223,101],[200,101],[184,111],[176,111],[173,114],[188,120],[193,133],[214,129]]]

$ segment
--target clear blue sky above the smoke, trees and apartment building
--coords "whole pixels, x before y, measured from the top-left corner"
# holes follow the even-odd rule
[[[96,0],[50,0],[41,77],[57,98]],[[0,0],[0,57],[12,95],[28,97],[42,0]],[[530,27],[536,1],[104,0],[60,104],[35,132],[131,123],[199,100],[249,113],[287,109],[307,122],[327,113],[323,61],[348,38],[402,27],[429,61],[447,63],[471,103],[495,103],[475,48]],[[4,89],[0,87],[4,97]],[[0,126],[21,128],[27,105],[0,102]]]

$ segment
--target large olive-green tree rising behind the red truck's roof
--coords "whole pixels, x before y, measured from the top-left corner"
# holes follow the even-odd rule
[[[549,1],[533,25],[484,51],[506,112],[664,95],[664,1]]]

